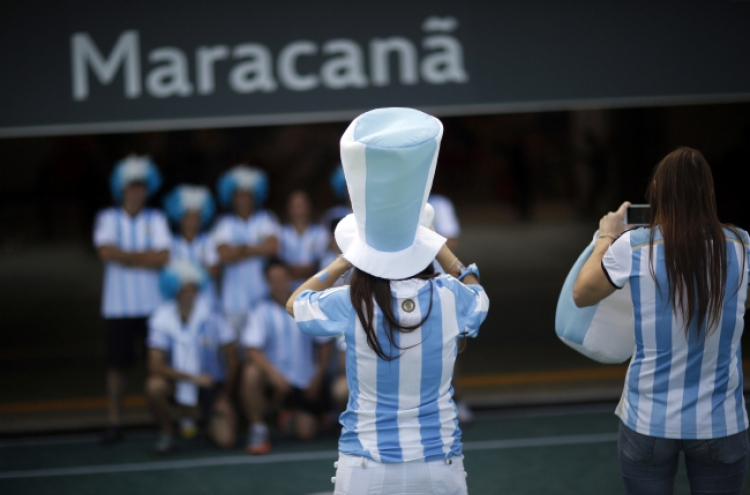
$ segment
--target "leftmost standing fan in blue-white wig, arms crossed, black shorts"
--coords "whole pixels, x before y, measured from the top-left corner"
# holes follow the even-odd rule
[[[121,160],[110,178],[118,206],[101,211],[94,227],[94,246],[105,263],[101,307],[107,321],[105,443],[120,438],[125,369],[135,360],[135,347],[145,343],[146,320],[161,302],[158,270],[169,258],[171,236],[164,214],[145,207],[160,185],[159,171],[149,157],[130,155]]]

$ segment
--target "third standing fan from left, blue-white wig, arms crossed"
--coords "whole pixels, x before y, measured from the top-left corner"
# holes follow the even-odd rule
[[[268,193],[265,172],[238,165],[220,178],[219,201],[231,210],[213,231],[224,264],[221,302],[229,324],[239,335],[248,311],[268,294],[263,263],[279,249],[279,223],[273,213],[258,210]]]

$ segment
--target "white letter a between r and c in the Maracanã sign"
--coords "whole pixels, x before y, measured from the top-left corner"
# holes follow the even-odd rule
[[[229,86],[238,93],[253,93],[276,91],[276,81],[273,78],[273,58],[271,52],[264,45],[246,43],[234,47],[234,58],[249,58],[250,60],[237,64],[229,74]]]

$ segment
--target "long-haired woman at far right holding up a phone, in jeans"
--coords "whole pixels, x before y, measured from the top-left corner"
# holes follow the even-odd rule
[[[748,416],[740,338],[748,298],[747,232],[719,222],[700,152],[656,167],[651,221],[625,230],[629,203],[602,217],[573,290],[591,306],[629,282],[635,353],[617,407],[627,494],[671,494],[680,451],[691,492],[742,492]]]

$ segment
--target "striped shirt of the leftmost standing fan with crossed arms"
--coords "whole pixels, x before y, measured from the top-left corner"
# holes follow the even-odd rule
[[[94,246],[114,246],[125,252],[164,251],[172,244],[167,218],[159,210],[143,209],[131,217],[122,208],[99,212]],[[104,267],[102,315],[105,318],[149,316],[161,302],[159,271],[133,268],[113,261]]]

